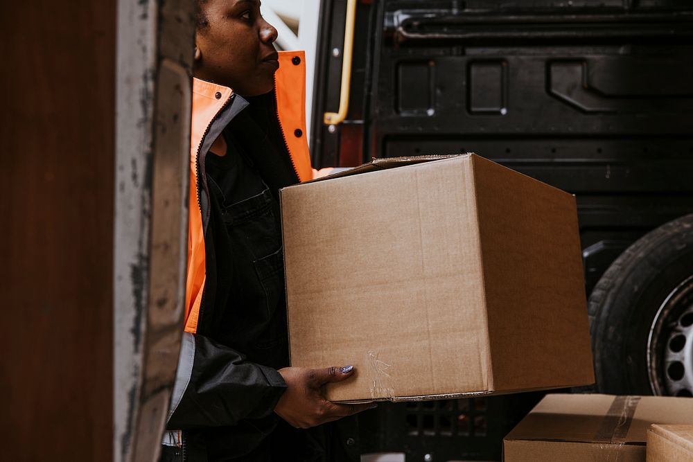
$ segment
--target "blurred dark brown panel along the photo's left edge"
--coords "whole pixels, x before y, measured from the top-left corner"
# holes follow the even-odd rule
[[[6,461],[112,458],[115,0],[0,5]]]

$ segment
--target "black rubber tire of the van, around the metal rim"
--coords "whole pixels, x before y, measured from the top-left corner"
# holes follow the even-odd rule
[[[608,267],[588,303],[596,391],[656,391],[651,368],[663,371],[648,361],[650,330],[669,294],[692,275],[693,214],[647,233]]]

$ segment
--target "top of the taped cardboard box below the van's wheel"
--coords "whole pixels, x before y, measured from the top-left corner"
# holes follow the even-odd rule
[[[547,395],[506,439],[644,445],[652,423],[693,424],[693,400],[667,396]]]

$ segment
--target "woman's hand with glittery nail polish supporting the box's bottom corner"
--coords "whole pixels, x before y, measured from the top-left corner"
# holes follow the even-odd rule
[[[328,382],[342,382],[353,374],[353,366],[308,369],[286,367],[279,369],[288,388],[279,398],[274,412],[297,428],[315,427],[326,422],[351,416],[360,411],[376,407],[365,405],[335,405],[325,399],[322,391]]]

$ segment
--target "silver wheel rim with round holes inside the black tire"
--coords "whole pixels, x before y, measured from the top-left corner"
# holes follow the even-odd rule
[[[652,393],[693,396],[693,276],[669,293],[647,339]]]

